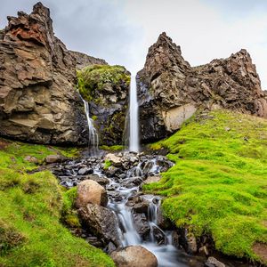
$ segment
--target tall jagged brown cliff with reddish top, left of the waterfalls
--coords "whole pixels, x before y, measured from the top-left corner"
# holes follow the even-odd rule
[[[28,142],[84,144],[76,61],[53,35],[49,9],[38,3],[29,15],[18,12],[8,21],[0,38],[1,134]]]

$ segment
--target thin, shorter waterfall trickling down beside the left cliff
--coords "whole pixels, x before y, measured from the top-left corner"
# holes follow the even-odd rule
[[[94,154],[98,151],[98,143],[99,143],[98,134],[97,134],[96,129],[93,126],[93,119],[90,117],[89,104],[83,98],[82,100],[85,106],[85,115],[86,115],[87,125],[88,125],[88,146],[92,148],[92,152]]]

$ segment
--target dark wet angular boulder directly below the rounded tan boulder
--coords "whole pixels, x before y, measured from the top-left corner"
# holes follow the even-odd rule
[[[106,246],[110,242],[115,247],[120,246],[117,218],[111,210],[103,206],[88,204],[78,210],[78,215],[85,227],[102,239]]]

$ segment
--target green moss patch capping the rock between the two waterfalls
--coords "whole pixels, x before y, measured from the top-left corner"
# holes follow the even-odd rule
[[[77,71],[78,89],[86,101],[100,102],[97,91],[112,91],[130,85],[129,72],[122,66],[93,65]]]

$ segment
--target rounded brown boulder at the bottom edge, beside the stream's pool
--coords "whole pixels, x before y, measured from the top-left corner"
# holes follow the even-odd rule
[[[114,251],[110,257],[117,267],[157,267],[158,260],[149,250],[142,246],[129,246]]]

